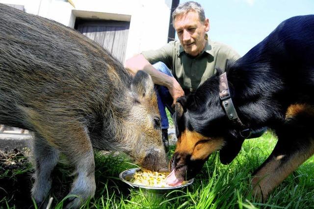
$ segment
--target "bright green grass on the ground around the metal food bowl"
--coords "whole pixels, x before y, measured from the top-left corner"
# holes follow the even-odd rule
[[[131,189],[118,179],[118,174],[135,165],[125,155],[95,153],[95,197],[82,208],[97,209],[306,209],[314,208],[314,157],[303,163],[278,186],[267,202],[260,203],[251,196],[251,173],[271,153],[276,137],[267,131],[259,139],[245,140],[242,150],[229,165],[219,162],[215,153],[186,190],[154,195]],[[171,147],[172,154],[174,147]],[[63,208],[62,198],[70,189],[70,168],[60,164],[54,172],[53,208]],[[21,172],[21,171],[19,171]],[[18,174],[14,178],[18,178]],[[2,177],[4,178],[4,177]],[[1,176],[0,176],[1,179]],[[0,186],[1,187],[1,186]],[[25,195],[29,195],[27,193]],[[12,194],[0,198],[0,208],[13,208]],[[30,202],[32,205],[32,202]],[[19,208],[19,207],[15,207]]]

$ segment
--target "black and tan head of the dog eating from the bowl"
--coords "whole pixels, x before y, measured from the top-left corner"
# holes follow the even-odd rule
[[[220,106],[219,98],[218,101],[213,99],[211,102],[214,104],[210,105],[200,106],[194,102],[193,97],[180,97],[173,117],[178,141],[169,166],[170,170],[175,170],[179,181],[193,178],[209,155],[217,150],[220,150],[221,163],[230,163],[244,140],[239,139],[228,126],[230,121]],[[210,108],[204,108],[208,105]]]

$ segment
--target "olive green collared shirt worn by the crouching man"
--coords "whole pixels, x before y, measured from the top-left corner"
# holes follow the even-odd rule
[[[215,68],[225,70],[228,59],[240,57],[230,46],[210,40],[196,57],[185,53],[179,41],[171,41],[157,50],[143,51],[142,54],[151,64],[158,61],[166,64],[183,90],[188,92],[194,92],[211,77],[216,72]]]

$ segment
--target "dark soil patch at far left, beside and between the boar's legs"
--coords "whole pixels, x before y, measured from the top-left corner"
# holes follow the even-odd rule
[[[0,150],[0,209],[7,206],[17,209],[34,208],[31,186],[35,171],[29,161],[30,154],[29,149]],[[73,178],[68,177],[69,170],[72,169],[61,164],[52,172],[52,197],[56,201],[62,200],[69,192]]]

